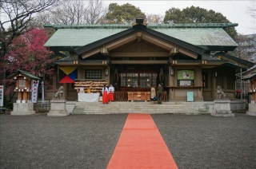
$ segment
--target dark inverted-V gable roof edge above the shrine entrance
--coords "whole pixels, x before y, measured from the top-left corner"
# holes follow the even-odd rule
[[[138,31],[138,30],[142,30],[142,31],[145,31],[146,33],[150,33],[151,35],[162,38],[165,41],[168,41],[170,43],[178,45],[182,48],[188,49],[191,52],[198,53],[199,55],[203,54],[203,49],[202,48],[200,48],[198,46],[195,46],[195,45],[192,45],[190,43],[187,43],[186,41],[182,41],[182,40],[179,40],[177,38],[170,37],[166,34],[159,33],[159,32],[157,32],[153,29],[149,29],[146,26],[144,26],[143,24],[137,24],[137,25],[133,26],[130,29],[126,29],[126,30],[124,30],[120,33],[116,33],[114,35],[111,35],[110,37],[105,37],[105,38],[103,38],[99,41],[94,41],[93,43],[90,43],[90,44],[85,45],[85,46],[83,46],[79,49],[76,49],[76,52],[78,53],[78,55],[80,55],[82,53],[86,53],[86,52],[88,52],[92,49],[95,49],[95,48],[97,48],[101,45],[105,45],[106,43],[108,43],[110,41],[114,41],[114,40],[116,40],[120,37],[124,37],[124,36],[128,35],[129,33],[133,33],[133,32]]]

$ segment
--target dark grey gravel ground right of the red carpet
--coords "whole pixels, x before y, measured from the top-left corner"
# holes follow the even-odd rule
[[[256,116],[152,117],[179,169],[256,168]]]

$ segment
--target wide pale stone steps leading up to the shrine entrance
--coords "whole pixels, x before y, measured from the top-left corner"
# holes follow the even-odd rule
[[[123,113],[178,113],[178,114],[210,114],[214,102],[162,102],[162,104],[142,101],[114,101],[109,104],[102,102],[76,102],[71,114],[123,114]]]

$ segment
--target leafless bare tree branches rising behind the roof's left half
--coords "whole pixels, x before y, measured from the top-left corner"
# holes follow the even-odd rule
[[[52,11],[38,14],[43,24],[98,24],[106,14],[102,0],[62,0],[62,4]]]

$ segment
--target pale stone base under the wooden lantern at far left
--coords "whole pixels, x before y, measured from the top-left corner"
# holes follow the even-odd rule
[[[11,111],[10,115],[32,115],[34,113],[34,103],[14,103],[14,111]]]

